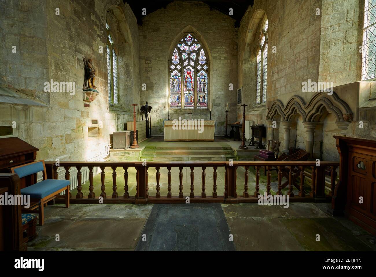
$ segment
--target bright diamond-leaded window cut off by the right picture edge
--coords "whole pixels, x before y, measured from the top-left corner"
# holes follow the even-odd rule
[[[376,0],[365,0],[362,80],[376,77]]]

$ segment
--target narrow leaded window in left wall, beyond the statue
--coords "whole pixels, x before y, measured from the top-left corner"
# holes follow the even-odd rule
[[[114,49],[114,40],[111,35],[111,28],[106,22],[107,31],[107,82],[108,82],[108,102],[118,104],[118,82],[117,82],[117,56]]]

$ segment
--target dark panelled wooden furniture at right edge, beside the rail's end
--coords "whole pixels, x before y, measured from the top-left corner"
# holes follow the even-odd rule
[[[340,180],[332,198],[334,215],[345,215],[376,234],[376,141],[334,136]]]

